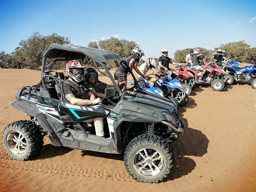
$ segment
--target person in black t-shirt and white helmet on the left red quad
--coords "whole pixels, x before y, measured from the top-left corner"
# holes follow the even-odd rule
[[[162,56],[159,57],[159,60],[158,60],[158,65],[159,65],[159,67],[160,67],[160,72],[171,77],[173,69],[171,69],[171,68],[169,67],[169,64],[170,64],[170,63],[173,64],[173,65],[178,65],[178,64],[175,63],[175,62],[173,62],[173,61],[168,57],[168,49],[163,48],[163,49],[161,50],[161,54],[162,54]]]

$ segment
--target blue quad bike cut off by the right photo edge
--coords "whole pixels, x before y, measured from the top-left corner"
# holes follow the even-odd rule
[[[222,67],[220,67],[222,68]],[[235,81],[251,82],[253,89],[256,89],[256,64],[245,67],[235,67],[232,65],[226,65],[225,68],[227,83],[231,85]]]

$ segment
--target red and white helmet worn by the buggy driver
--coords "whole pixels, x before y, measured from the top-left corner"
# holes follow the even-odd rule
[[[76,82],[83,79],[84,66],[77,60],[69,61],[66,65],[67,75]]]

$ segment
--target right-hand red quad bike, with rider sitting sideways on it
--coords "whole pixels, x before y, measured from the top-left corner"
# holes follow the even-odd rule
[[[211,87],[214,91],[221,91],[222,89],[224,89],[224,87],[227,85],[227,77],[224,70],[214,68],[216,66],[211,67],[206,63],[202,64],[201,67],[206,69],[206,73],[202,78],[202,80],[204,81],[203,84],[211,84]],[[181,67],[181,69],[186,69],[189,72],[193,73],[196,83],[200,84],[198,83],[198,79],[201,76],[202,71],[195,70],[192,67],[188,66],[183,66]]]

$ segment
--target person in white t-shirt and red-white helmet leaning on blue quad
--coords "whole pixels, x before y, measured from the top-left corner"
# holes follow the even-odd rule
[[[155,59],[153,59],[153,58],[148,58],[148,59],[146,60],[146,62],[143,63],[143,64],[139,67],[139,70],[140,70],[140,72],[144,75],[144,77],[146,77],[146,80],[149,81],[150,85],[151,85],[151,86],[154,86],[154,82],[156,81],[156,79],[153,78],[153,77],[149,77],[149,75],[153,75],[153,74],[156,75],[157,70],[155,70],[154,72],[150,72],[149,74],[147,74],[148,70],[149,70],[149,69],[152,69],[152,67],[155,68],[155,69],[157,69],[156,61],[155,61]],[[141,77],[141,75],[138,74],[138,77]]]

